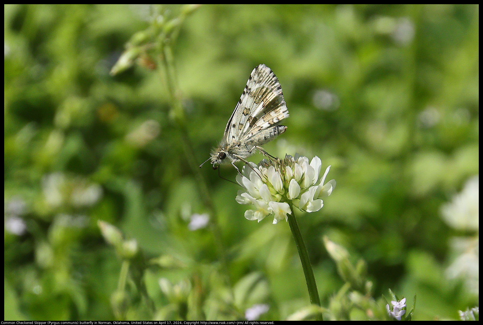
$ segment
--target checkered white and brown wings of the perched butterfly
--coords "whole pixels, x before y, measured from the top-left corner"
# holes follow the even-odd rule
[[[227,143],[243,141],[288,118],[282,86],[265,64],[253,69],[225,128]]]

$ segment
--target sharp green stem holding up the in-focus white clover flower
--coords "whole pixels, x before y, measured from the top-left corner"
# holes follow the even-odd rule
[[[312,265],[309,260],[309,252],[303,242],[300,228],[298,227],[297,218],[295,217],[294,207],[289,203],[291,215],[288,215],[288,224],[294,236],[295,244],[297,245],[298,256],[300,256],[300,262],[302,262],[303,273],[305,275],[305,281],[307,282],[307,288],[309,289],[310,302],[314,305],[320,306],[319,292],[317,290],[317,283],[315,283],[315,277],[313,276]],[[320,315],[320,319],[322,315]]]

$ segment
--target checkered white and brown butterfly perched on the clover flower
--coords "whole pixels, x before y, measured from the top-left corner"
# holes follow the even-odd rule
[[[208,160],[213,163],[213,169],[217,168],[215,165],[231,162],[240,173],[235,162],[248,163],[246,158],[256,150],[270,156],[260,146],[285,132],[287,127],[278,123],[288,117],[278,78],[265,64],[258,65],[250,74],[240,100],[228,119],[223,139],[211,152]]]

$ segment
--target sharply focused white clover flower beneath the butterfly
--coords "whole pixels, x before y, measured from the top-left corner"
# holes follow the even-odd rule
[[[258,222],[271,214],[273,223],[286,221],[287,214],[292,214],[289,204],[306,212],[318,211],[324,206],[321,198],[329,196],[336,185],[334,179],[324,184],[330,166],[318,181],[321,167],[319,157],[309,163],[307,157],[298,154],[274,161],[264,159],[258,165],[250,162],[243,166],[243,175],[237,175],[245,191],[238,191],[236,201],[254,205],[255,209],[245,211],[245,218]]]

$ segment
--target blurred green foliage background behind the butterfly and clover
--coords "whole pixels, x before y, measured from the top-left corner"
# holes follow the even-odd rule
[[[162,10],[172,18],[180,7]],[[140,58],[109,74],[149,11],[4,6],[5,320],[114,319],[123,262],[99,220],[141,250],[116,298],[126,319],[243,319],[266,303],[260,319],[276,320],[309,305],[288,224],[244,219],[237,186],[208,167],[225,262],[212,232],[189,230],[209,210],[161,67]],[[468,233],[440,217],[479,173],[478,5],[207,5],[173,51],[199,163],[265,63],[290,111],[266,150],[332,165],[337,189],[298,215],[323,306],[344,289],[324,236],[367,262],[374,297],[416,294],[414,320],[457,319],[478,304],[445,278],[449,238]]]

